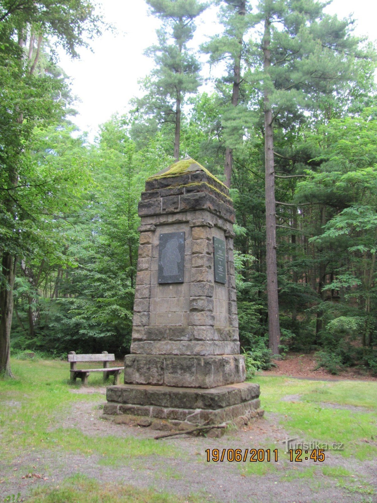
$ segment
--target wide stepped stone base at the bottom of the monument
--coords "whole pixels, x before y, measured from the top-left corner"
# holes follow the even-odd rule
[[[210,389],[117,385],[107,388],[106,398],[104,414],[147,416],[174,424],[218,425],[263,415],[259,384],[245,382]]]

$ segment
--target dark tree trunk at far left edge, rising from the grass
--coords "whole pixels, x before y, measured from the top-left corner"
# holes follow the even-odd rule
[[[10,357],[16,265],[17,258],[4,251],[2,260],[4,283],[0,284],[0,375],[9,377],[14,377],[11,371]]]

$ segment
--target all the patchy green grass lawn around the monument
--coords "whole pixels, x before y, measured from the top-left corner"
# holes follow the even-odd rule
[[[63,457],[72,452],[77,455],[96,456],[97,463],[104,469],[127,466],[143,467],[146,459],[176,460],[184,463],[187,452],[184,438],[180,438],[179,447],[172,441],[155,441],[143,438],[133,430],[125,435],[86,435],[82,429],[62,425],[75,402],[92,403],[100,414],[104,395],[73,393],[81,383],[69,382],[69,365],[66,362],[39,360],[12,360],[12,371],[16,379],[0,380],[0,502],[17,501],[12,493],[2,492],[2,484],[10,482],[11,475],[2,476],[1,466],[11,466],[16,460],[28,456],[33,451],[39,456]],[[369,462],[377,458],[377,382],[357,381],[307,381],[285,377],[256,376],[253,381],[259,382],[261,402],[265,417],[277,417],[279,427],[289,433],[290,438],[298,437],[302,441],[319,441],[321,443],[342,443],[343,449],[334,452],[337,459],[355,460],[355,463]],[[90,387],[98,390],[102,387],[102,374],[90,374]],[[284,398],[282,400],[282,398]],[[90,418],[84,418],[90,421]],[[258,423],[255,423],[257,425]],[[262,420],[260,424],[266,424]],[[264,427],[267,428],[267,427]],[[120,430],[121,431],[121,430]],[[251,430],[250,430],[251,431]],[[135,432],[135,434],[133,434]],[[234,433],[234,432],[233,432]],[[223,437],[226,439],[227,436]],[[234,437],[233,437],[234,438]],[[250,437],[252,438],[252,437]],[[222,440],[223,440],[222,439]],[[232,432],[228,439],[232,439]],[[206,439],[202,439],[206,440]],[[208,439],[210,440],[210,439]],[[199,440],[198,440],[199,441]],[[214,442],[215,439],[212,439]],[[204,445],[204,444],[203,444]],[[201,446],[202,448],[203,446]],[[325,463],[296,463],[292,466],[288,455],[280,444],[273,443],[273,435],[267,437],[264,449],[279,448],[282,458],[279,465],[273,463],[241,463],[236,468],[242,477],[273,477],[271,483],[302,483],[304,479],[313,487],[326,487],[334,481],[346,494],[357,493],[354,501],[372,501],[374,488],[360,476],[355,477],[352,468],[330,466]],[[203,453],[206,447],[203,448]],[[327,454],[326,454],[327,455]],[[199,471],[209,470],[214,463],[196,461]],[[161,466],[160,466],[161,465]],[[228,463],[228,465],[232,465]],[[235,465],[235,464],[234,464]],[[233,465],[233,468],[234,468]],[[13,466],[13,465],[12,465]],[[184,475],[175,467],[160,463],[161,473],[165,477],[183,482]],[[196,465],[195,465],[196,466]],[[352,464],[351,464],[352,466]],[[232,468],[232,466],[230,466]],[[295,469],[293,469],[295,468]],[[32,468],[30,468],[32,470]],[[228,468],[227,468],[228,469]],[[235,473],[235,472],[232,472]],[[169,475],[170,474],[170,475]],[[234,476],[234,475],[232,475]],[[212,479],[213,480],[213,479]],[[305,480],[304,480],[305,481]],[[254,483],[253,482],[253,483]],[[322,484],[322,485],[321,485]],[[36,484],[37,485],[37,484]],[[207,485],[207,484],[206,484]],[[207,489],[204,487],[203,489]],[[353,497],[353,496],[352,496]],[[13,498],[13,499],[12,499]],[[360,499],[361,498],[361,499]],[[22,499],[19,499],[21,501]],[[44,485],[30,493],[27,501],[32,503],[126,503],[166,502],[166,503],[200,503],[208,501],[202,494],[181,497],[173,492],[154,490],[153,488],[135,487],[123,483],[109,483],[77,473],[61,480],[58,484]],[[211,501],[215,499],[211,498]],[[251,501],[251,500],[250,500]],[[313,500],[314,501],[314,500]],[[317,500],[316,500],[317,501]]]

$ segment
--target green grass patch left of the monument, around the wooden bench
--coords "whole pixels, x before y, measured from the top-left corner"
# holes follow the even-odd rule
[[[176,450],[153,439],[84,435],[75,428],[56,428],[75,401],[93,405],[105,402],[99,393],[77,394],[70,388],[81,384],[69,382],[69,365],[60,361],[12,360],[16,379],[0,381],[0,431],[7,439],[2,457],[8,463],[18,455],[41,449],[78,451],[101,456],[101,464],[120,464],[131,458],[150,455],[173,456]],[[103,386],[102,376],[89,376],[91,386]],[[90,421],[84,417],[83,421]]]

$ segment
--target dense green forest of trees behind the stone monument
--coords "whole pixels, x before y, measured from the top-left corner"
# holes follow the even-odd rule
[[[140,194],[190,155],[230,188],[249,368],[315,351],[377,374],[373,44],[316,0],[146,4],[154,69],[90,142],[58,48],[111,27],[86,0],[0,0],[0,373],[22,352],[129,353]],[[210,4],[221,32],[193,49]]]

